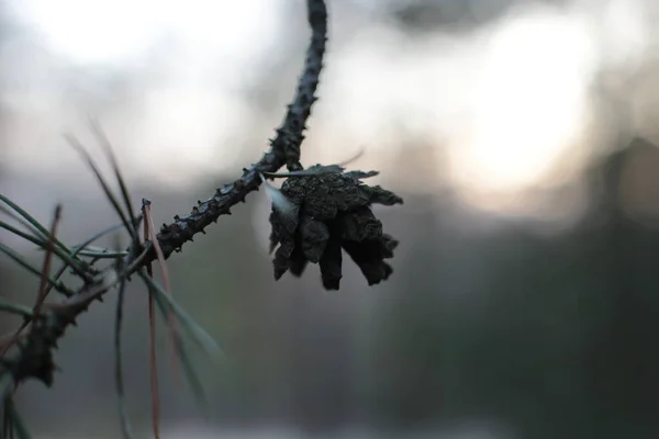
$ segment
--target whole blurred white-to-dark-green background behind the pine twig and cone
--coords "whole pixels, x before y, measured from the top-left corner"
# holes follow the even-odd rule
[[[303,164],[377,169],[400,239],[369,288],[317,267],[275,282],[263,191],[169,259],[204,421],[159,330],[164,438],[654,438],[659,435],[659,3],[333,0]],[[108,133],[156,224],[258,160],[301,71],[302,0],[0,1],[0,188],[77,244],[118,218],[64,142]],[[107,173],[110,177],[110,173]],[[33,258],[29,243],[2,243]],[[113,244],[108,239],[105,245]],[[0,295],[38,279],[0,258]],[[115,294],[69,329],[36,438],[121,437]],[[127,292],[126,406],[149,435],[146,294]],[[15,322],[0,315],[0,330]]]

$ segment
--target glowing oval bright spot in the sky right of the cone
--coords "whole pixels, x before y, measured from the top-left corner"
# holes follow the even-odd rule
[[[579,18],[514,18],[488,43],[457,178],[490,189],[533,184],[579,144],[595,47]]]

